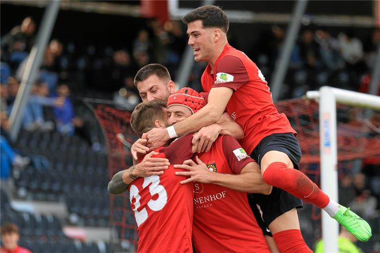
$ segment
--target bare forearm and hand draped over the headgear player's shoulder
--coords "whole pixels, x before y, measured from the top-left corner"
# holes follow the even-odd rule
[[[231,135],[237,140],[244,137],[243,129],[236,123],[232,117],[227,113],[223,113],[219,121],[207,127],[202,127],[194,134],[193,145],[197,144],[197,152],[208,152],[212,143],[218,138],[219,134]]]

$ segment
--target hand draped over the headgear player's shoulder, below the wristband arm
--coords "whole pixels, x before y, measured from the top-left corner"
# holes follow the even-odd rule
[[[192,137],[192,144],[194,145],[197,140],[199,140],[196,152],[209,151],[212,143],[218,138],[221,127],[219,124],[212,124],[207,127],[202,127],[197,133]]]

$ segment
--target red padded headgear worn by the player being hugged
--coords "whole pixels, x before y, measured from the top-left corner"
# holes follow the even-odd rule
[[[184,87],[171,94],[168,98],[168,108],[172,105],[182,105],[190,109],[192,114],[206,105],[206,101],[196,90]]]

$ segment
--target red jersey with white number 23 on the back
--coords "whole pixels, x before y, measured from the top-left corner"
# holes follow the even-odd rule
[[[192,134],[156,149],[154,157],[167,158],[162,175],[138,178],[129,185],[131,210],[138,225],[139,253],[192,253],[191,226],[193,185],[180,184],[186,176],[175,175],[173,165],[192,157]]]

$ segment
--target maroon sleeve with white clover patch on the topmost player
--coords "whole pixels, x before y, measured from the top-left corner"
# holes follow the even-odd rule
[[[214,87],[228,87],[236,91],[249,82],[248,72],[243,62],[236,56],[223,57],[216,68]]]

